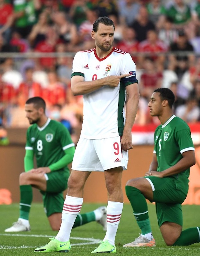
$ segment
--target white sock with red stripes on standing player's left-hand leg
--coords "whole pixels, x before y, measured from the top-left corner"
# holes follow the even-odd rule
[[[82,204],[83,198],[66,196],[62,211],[62,223],[55,237],[57,240],[61,242],[69,240],[72,227],[77,215],[80,213]]]

